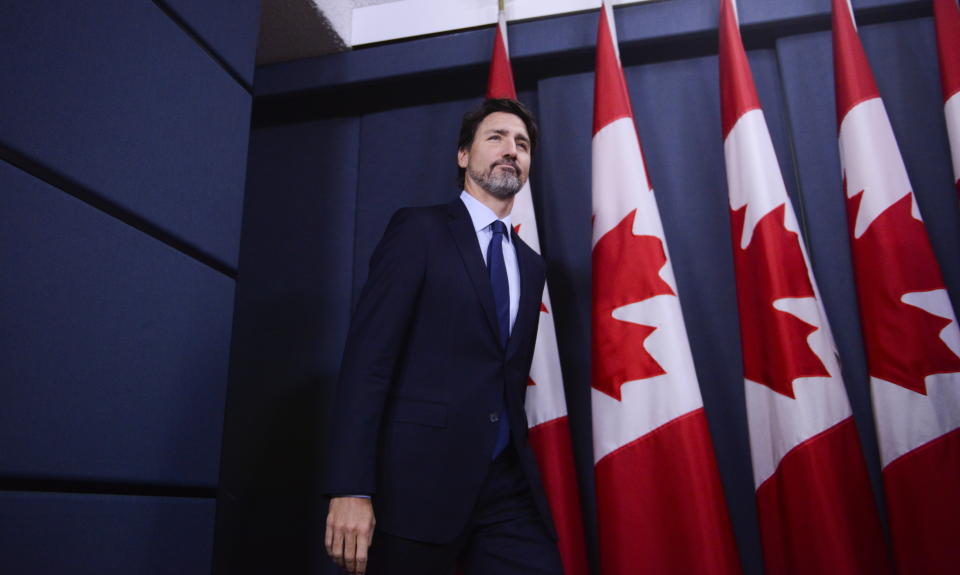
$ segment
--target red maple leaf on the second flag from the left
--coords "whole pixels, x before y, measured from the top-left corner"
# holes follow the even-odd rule
[[[643,343],[657,328],[622,321],[613,311],[657,295],[675,295],[660,277],[667,263],[656,236],[633,235],[636,210],[593,248],[593,387],[620,400],[625,382],[666,373]]]

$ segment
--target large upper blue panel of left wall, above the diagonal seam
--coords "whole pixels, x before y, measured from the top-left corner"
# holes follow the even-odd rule
[[[0,145],[236,266],[250,95],[151,2],[16,2]]]

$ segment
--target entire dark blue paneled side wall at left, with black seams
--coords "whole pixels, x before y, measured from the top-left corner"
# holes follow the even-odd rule
[[[209,573],[259,1],[2,12],[0,570]]]

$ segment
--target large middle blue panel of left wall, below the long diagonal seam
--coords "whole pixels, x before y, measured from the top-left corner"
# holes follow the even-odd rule
[[[217,482],[234,282],[0,163],[0,475]]]

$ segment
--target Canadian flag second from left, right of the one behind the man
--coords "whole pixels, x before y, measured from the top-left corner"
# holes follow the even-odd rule
[[[593,447],[604,575],[740,573],[604,3],[593,113]]]

